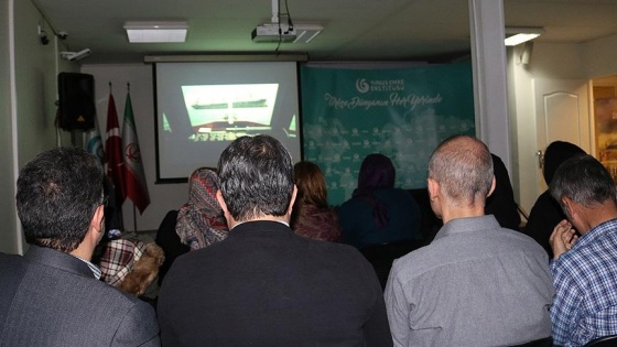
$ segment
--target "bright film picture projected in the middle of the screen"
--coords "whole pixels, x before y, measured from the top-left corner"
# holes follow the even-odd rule
[[[231,141],[270,131],[278,84],[183,86],[192,141]]]

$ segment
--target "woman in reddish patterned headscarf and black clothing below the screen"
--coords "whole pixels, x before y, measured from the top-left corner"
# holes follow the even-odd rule
[[[227,221],[216,200],[218,176],[207,167],[195,170],[188,178],[188,202],[180,210],[170,210],[159,230],[155,242],[165,252],[159,271],[159,284],[174,260],[188,252],[225,239]]]

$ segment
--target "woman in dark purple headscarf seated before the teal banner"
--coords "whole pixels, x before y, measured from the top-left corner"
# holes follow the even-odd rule
[[[420,207],[411,195],[394,188],[396,171],[383,154],[362,161],[358,186],[339,208],[343,240],[361,249],[369,245],[422,239]]]

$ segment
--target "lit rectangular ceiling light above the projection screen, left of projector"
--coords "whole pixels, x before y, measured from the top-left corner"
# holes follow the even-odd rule
[[[184,42],[186,22],[126,22],[125,30],[131,43]]]

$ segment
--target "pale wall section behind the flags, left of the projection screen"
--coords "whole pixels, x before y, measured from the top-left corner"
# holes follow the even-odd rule
[[[127,99],[127,83],[131,87],[131,104],[133,108],[136,128],[142,155],[145,181],[150,193],[150,205],[143,215],[136,212],[133,204],[127,199],[122,205],[125,230],[133,231],[137,219],[137,230],[156,230],[170,209],[177,209],[188,198],[188,185],[154,184],[156,180],[154,152],[154,94],[151,65],[84,65],[82,72],[95,77],[95,100],[97,118],[101,137],[105,141],[107,126],[107,104],[109,100],[109,83],[112,85],[113,99],[118,111],[120,129],[123,122],[125,102]],[[186,173],[188,176],[191,173]]]

